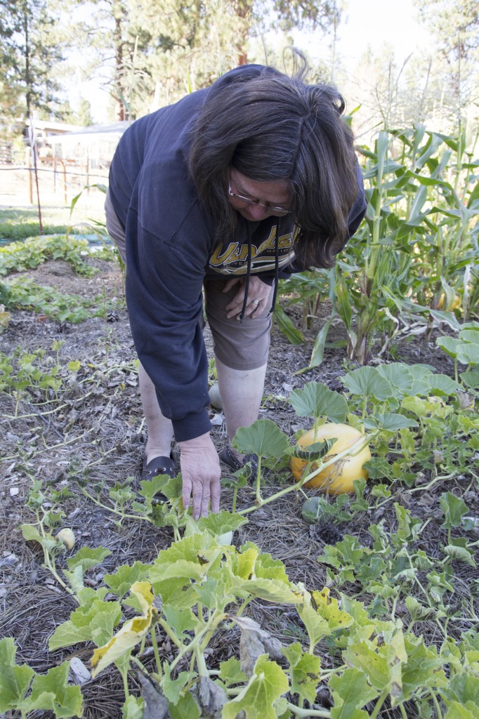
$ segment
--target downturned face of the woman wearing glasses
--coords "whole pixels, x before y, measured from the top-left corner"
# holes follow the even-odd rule
[[[250,222],[288,214],[291,196],[288,183],[251,180],[234,168],[229,169],[228,199],[234,209]]]

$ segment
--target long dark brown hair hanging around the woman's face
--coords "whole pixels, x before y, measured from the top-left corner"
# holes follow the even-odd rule
[[[293,77],[250,65],[210,88],[189,168],[221,236],[235,221],[225,192],[230,166],[252,180],[286,180],[301,227],[298,262],[331,267],[347,241],[347,216],[358,194],[352,133],[342,119],[342,96],[330,86],[306,85],[306,60],[295,54],[301,67]]]

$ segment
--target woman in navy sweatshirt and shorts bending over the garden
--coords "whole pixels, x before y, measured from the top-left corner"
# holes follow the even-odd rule
[[[299,55],[299,54],[298,54]],[[301,60],[303,60],[300,55]],[[334,88],[243,65],[134,122],[111,163],[107,227],[127,265],[148,438],[144,477],[175,476],[193,516],[219,510],[203,302],[227,434],[257,418],[278,278],[330,267],[365,214]]]

